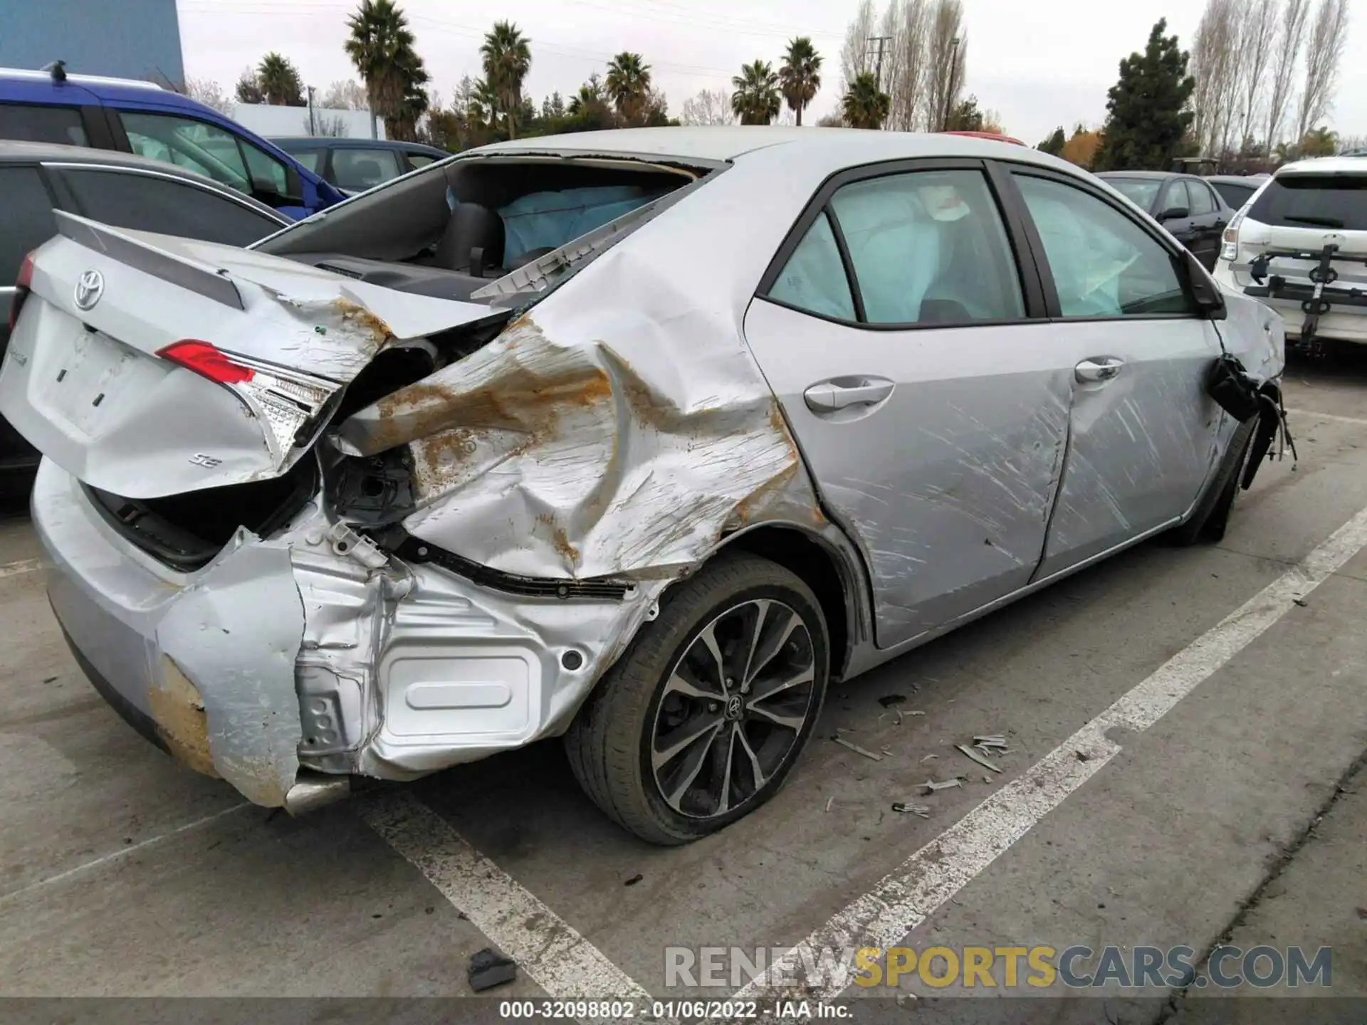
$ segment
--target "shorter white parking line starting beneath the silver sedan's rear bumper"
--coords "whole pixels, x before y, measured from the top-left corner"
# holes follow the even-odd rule
[[[361,817],[552,999],[636,999],[649,994],[560,916],[465,842],[410,794],[361,802]]]

